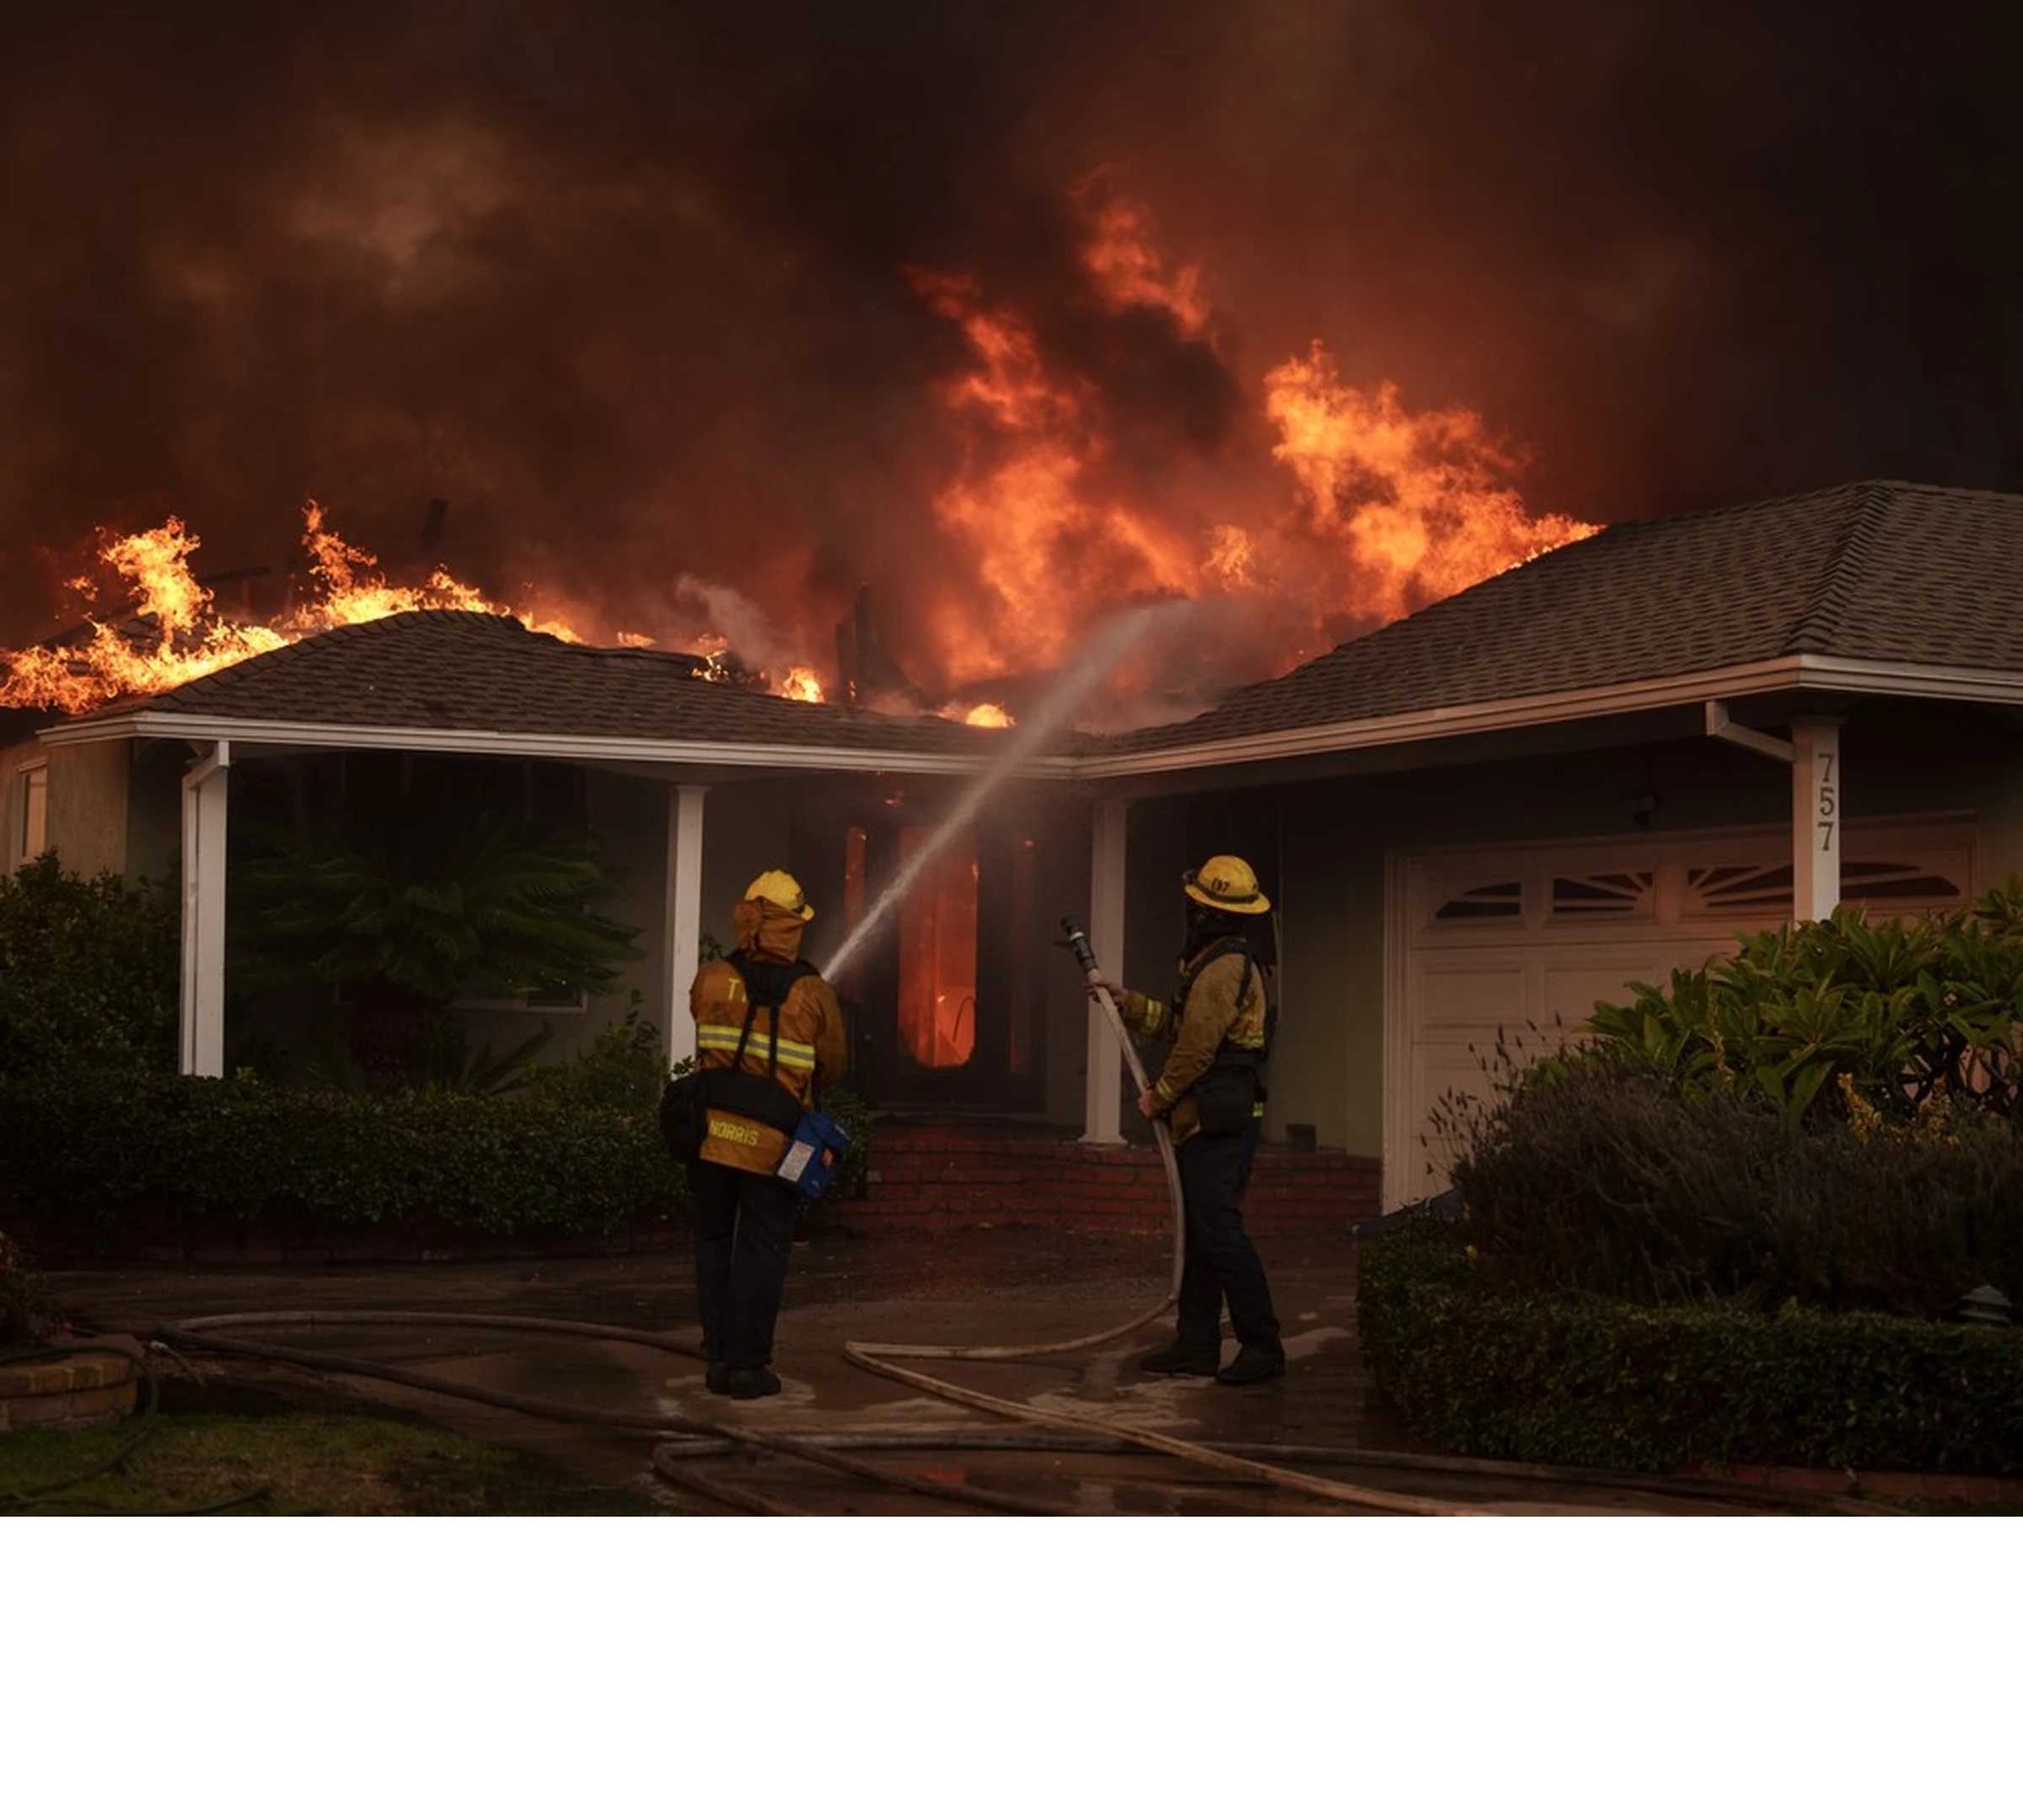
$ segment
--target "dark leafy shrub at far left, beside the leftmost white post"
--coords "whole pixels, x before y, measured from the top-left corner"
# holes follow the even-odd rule
[[[0,878],[0,1078],[176,1066],[178,910],[168,892],[63,872]]]

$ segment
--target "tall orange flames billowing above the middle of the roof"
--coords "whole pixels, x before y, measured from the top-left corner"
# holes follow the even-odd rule
[[[1072,194],[1101,303],[1159,311],[1181,340],[1206,342],[1200,269],[1169,271],[1151,216],[1098,180]],[[957,684],[1050,665],[1090,611],[1153,595],[1244,597],[1244,655],[1262,645],[1285,669],[1357,625],[1598,530],[1533,516],[1513,485],[1517,457],[1473,411],[1414,413],[1394,384],[1347,386],[1319,342],[1262,376],[1274,461],[1242,485],[1262,530],[1196,520],[1171,504],[1177,487],[1161,508],[1129,502],[1098,400],[1048,364],[1038,332],[971,277],[910,277],[931,309],[961,326],[969,350],[969,368],[941,390],[963,441],[935,497],[943,526],[973,552],[981,593],[939,615],[941,657]],[[1226,512],[1228,491],[1222,504]]]

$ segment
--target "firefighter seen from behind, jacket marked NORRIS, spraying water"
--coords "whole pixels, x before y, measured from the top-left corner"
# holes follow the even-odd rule
[[[704,963],[688,989],[696,1068],[728,1072],[710,1088],[688,1167],[704,1381],[718,1395],[779,1391],[773,1327],[801,1193],[775,1171],[801,1110],[844,1072],[842,1005],[801,959],[813,914],[791,872],[761,872],[730,912],[736,950]]]

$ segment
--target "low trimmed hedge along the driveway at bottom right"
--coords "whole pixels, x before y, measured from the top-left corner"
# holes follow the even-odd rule
[[[1469,1225],[1424,1213],[1364,1248],[1357,1310],[1378,1385],[1455,1454],[2023,1472],[2017,1329],[1503,1292]]]

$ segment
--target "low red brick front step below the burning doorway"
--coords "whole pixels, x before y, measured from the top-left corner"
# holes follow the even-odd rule
[[[1378,1161],[1347,1151],[1258,1151],[1252,1232],[1347,1232],[1378,1213]],[[1165,1169],[1151,1145],[1084,1145],[1064,1132],[880,1120],[862,1199],[835,1211],[866,1227],[1054,1225],[1163,1232]]]

